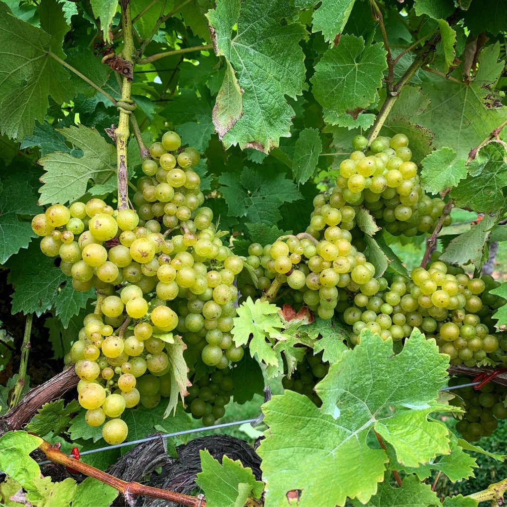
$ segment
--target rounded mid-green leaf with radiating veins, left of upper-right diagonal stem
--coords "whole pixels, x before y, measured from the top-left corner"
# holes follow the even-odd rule
[[[329,49],[315,65],[315,75],[310,79],[318,103],[343,114],[375,102],[387,68],[385,55],[382,44],[365,48],[362,37],[342,35],[340,44]]]

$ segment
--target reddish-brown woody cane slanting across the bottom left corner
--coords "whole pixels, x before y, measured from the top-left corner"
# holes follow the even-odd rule
[[[182,493],[176,493],[175,491],[168,491],[165,489],[153,488],[151,486],[144,486],[137,482],[126,482],[121,479],[117,479],[110,474],[106,474],[87,463],[79,461],[73,457],[67,456],[60,451],[58,446],[51,445],[45,440],[39,446],[39,449],[46,455],[46,457],[53,463],[59,463],[70,468],[74,468],[82,474],[93,477],[104,484],[107,484],[117,491],[119,491],[124,497],[128,505],[133,505],[134,496],[150,496],[151,498],[161,498],[162,500],[168,500],[180,503],[182,505],[188,505],[189,507],[205,507],[206,501],[196,496],[184,495]]]

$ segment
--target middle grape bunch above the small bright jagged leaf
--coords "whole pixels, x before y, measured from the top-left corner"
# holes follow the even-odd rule
[[[325,199],[324,196],[317,198]],[[276,277],[282,285],[293,289],[288,296],[292,299],[285,302],[292,303],[296,309],[306,305],[324,319],[334,315],[339,301],[347,298],[347,291],[373,295],[379,290],[375,268],[351,244],[350,231],[338,227],[331,215],[328,222],[321,241],[303,234],[281,238],[264,247],[253,243],[246,259],[259,279],[261,291],[266,291]],[[256,293],[251,283],[243,284],[245,278],[246,274],[240,280],[243,298]]]

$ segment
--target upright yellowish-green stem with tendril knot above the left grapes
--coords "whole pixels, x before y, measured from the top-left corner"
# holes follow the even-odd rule
[[[130,13],[130,0],[122,0],[122,27],[123,27],[123,59],[133,66],[134,38],[132,32],[132,16]],[[130,135],[129,120],[132,116],[133,101],[132,81],[128,76],[123,77],[121,99],[118,101],[120,118],[118,128],[115,130],[118,173],[118,211],[128,209],[128,174],[127,174],[127,142]]]

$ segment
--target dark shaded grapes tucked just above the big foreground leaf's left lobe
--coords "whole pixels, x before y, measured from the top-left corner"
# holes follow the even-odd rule
[[[312,355],[306,353],[303,360],[298,363],[292,375],[285,375],[282,378],[284,389],[299,392],[307,396],[317,407],[322,405],[322,401],[314,391],[315,384],[327,375],[329,363],[322,361],[322,352]]]

